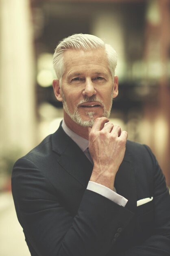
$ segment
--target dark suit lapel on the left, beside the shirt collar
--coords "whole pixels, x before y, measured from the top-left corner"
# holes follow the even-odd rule
[[[82,186],[87,187],[93,165],[77,144],[59,127],[52,135],[52,150],[58,154],[57,161]]]

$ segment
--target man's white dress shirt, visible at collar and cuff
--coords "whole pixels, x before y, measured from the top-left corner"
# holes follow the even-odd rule
[[[83,137],[79,136],[72,130],[70,130],[68,128],[68,126],[66,126],[64,120],[62,122],[62,128],[65,131],[65,133],[79,146],[79,148],[81,148],[81,150],[85,153],[86,157],[90,160],[90,162],[93,163],[92,157],[89,154],[89,150],[87,150],[87,148],[89,146],[89,141],[87,139],[84,139]],[[122,195],[119,195],[118,193],[116,193],[115,192],[116,190],[113,191],[113,190],[109,189],[108,187],[103,186],[102,184],[92,182],[90,180],[87,185],[87,189],[94,191],[94,192],[104,196],[105,198],[108,198],[109,200],[111,200],[123,207],[126,205],[126,203],[128,201]]]

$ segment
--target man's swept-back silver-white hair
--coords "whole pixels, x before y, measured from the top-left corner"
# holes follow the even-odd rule
[[[53,66],[57,79],[61,83],[62,76],[64,74],[64,52],[68,49],[76,49],[89,51],[94,49],[104,49],[106,52],[108,67],[113,78],[115,74],[115,68],[117,65],[117,53],[111,47],[111,45],[105,44],[102,39],[97,36],[89,34],[73,34],[68,36],[59,42],[57,45],[54,56],[53,56]]]

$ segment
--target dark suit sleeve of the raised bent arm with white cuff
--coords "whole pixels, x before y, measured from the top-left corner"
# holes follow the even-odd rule
[[[134,215],[86,189],[76,216],[72,216],[41,170],[26,158],[14,165],[12,193],[34,256],[105,256],[118,228],[124,229]]]

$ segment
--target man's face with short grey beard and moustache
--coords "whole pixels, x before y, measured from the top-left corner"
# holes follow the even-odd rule
[[[57,99],[63,101],[65,122],[71,118],[78,125],[93,126],[97,117],[108,118],[112,98],[118,94],[118,79],[113,82],[105,51],[67,50],[64,63]]]

